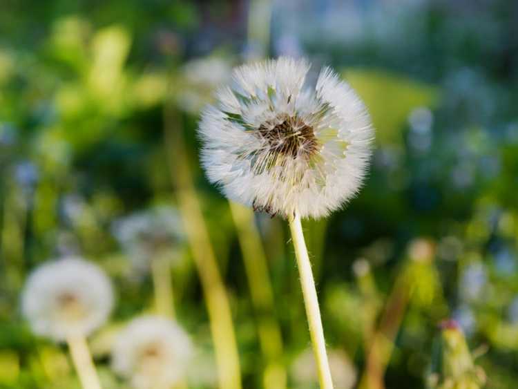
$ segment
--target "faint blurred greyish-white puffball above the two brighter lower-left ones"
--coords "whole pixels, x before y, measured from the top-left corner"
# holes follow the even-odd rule
[[[178,211],[166,205],[117,220],[113,234],[138,272],[148,272],[150,260],[175,258],[184,240]]]

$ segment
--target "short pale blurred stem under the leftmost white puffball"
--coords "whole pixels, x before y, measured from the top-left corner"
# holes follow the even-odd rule
[[[101,383],[95,371],[86,338],[84,336],[70,336],[67,343],[83,389],[101,389]]]

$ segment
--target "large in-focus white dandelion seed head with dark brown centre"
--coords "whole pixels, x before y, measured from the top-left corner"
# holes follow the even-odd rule
[[[374,131],[361,99],[331,68],[281,57],[240,66],[200,121],[202,164],[224,195],[285,217],[319,218],[361,187]]]

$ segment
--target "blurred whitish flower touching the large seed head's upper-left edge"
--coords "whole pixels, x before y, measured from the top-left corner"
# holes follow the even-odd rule
[[[230,79],[231,66],[220,57],[193,59],[182,68],[184,87],[178,95],[178,104],[187,112],[198,114],[213,101],[213,91]]]

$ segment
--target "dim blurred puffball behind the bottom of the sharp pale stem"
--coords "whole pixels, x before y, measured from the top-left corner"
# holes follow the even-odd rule
[[[356,383],[356,368],[343,350],[329,350],[329,367],[335,389],[351,389]],[[318,383],[315,359],[311,350],[300,354],[291,366],[291,375],[296,382],[296,388],[313,388]]]

